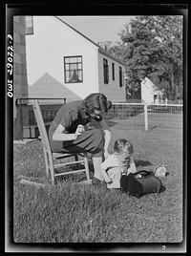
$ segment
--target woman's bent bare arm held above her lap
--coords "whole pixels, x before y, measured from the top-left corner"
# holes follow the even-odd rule
[[[77,127],[74,134],[64,134],[63,133],[64,131],[65,131],[64,126],[59,124],[57,126],[56,130],[53,133],[53,140],[67,141],[67,140],[77,139],[77,136],[79,136],[84,131],[84,128],[83,127]]]

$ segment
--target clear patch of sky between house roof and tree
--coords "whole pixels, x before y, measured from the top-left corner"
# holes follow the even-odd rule
[[[124,29],[133,16],[59,16],[95,43],[120,41],[118,32]]]

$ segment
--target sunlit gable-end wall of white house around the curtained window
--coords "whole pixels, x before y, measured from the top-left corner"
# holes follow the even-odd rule
[[[46,74],[55,79],[58,84],[66,86],[77,97],[84,98],[91,93],[98,92],[96,45],[54,16],[33,16],[33,34],[26,36],[26,46],[29,85],[32,86]],[[82,55],[83,83],[65,84],[64,56],[73,55]],[[44,97],[49,97],[48,92],[44,89],[43,92],[40,90],[39,86],[40,96],[44,94]],[[30,86],[29,94],[32,96]],[[67,101],[72,100],[75,98],[67,98]]]

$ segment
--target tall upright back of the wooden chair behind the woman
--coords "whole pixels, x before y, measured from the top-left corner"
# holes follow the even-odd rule
[[[33,108],[33,112],[36,118],[36,122],[38,125],[38,130],[40,133],[40,138],[42,141],[43,146],[45,146],[48,150],[51,151],[51,147],[50,147],[50,142],[49,142],[49,138],[47,135],[47,130],[45,128],[45,123],[42,117],[42,113],[40,110],[40,106],[39,106],[39,102],[37,99],[32,100],[32,108]]]

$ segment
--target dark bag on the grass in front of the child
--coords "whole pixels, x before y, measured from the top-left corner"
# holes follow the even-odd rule
[[[161,181],[155,177],[152,171],[138,171],[122,176],[120,180],[121,191],[129,192],[137,198],[151,193],[158,193],[161,189]]]

